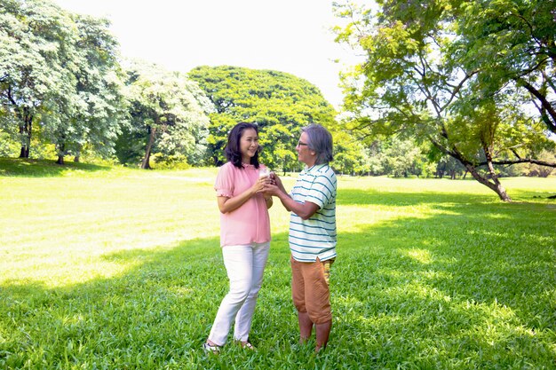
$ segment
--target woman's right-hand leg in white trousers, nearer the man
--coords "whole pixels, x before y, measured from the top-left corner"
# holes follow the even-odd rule
[[[263,284],[263,274],[265,272],[266,260],[270,242],[253,244],[252,254],[252,280],[249,295],[242,305],[242,308],[235,317],[234,339],[247,342],[257,304],[258,291]]]

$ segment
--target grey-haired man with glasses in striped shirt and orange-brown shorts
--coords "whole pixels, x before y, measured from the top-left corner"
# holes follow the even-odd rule
[[[332,136],[321,125],[302,130],[298,160],[306,167],[291,193],[280,177],[265,192],[282,201],[290,216],[291,295],[298,310],[300,342],[316,332],[315,351],[326,347],[332,327],[330,309],[330,264],[336,258],[337,180],[330,168]]]

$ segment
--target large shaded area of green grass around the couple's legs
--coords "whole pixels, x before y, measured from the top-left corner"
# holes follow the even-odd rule
[[[200,350],[227,288],[212,238],[103,256],[133,266],[111,279],[55,289],[4,285],[0,364],[550,368],[556,216],[537,213],[532,225],[529,209],[456,199],[437,205],[431,194],[432,207],[447,213],[339,232],[335,322],[322,356],[296,344],[287,235],[277,233],[251,332],[257,352],[228,345],[217,357]]]

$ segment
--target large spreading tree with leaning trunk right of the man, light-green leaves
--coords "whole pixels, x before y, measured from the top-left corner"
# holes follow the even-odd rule
[[[495,165],[551,165],[534,156],[553,142],[539,117],[523,104],[519,84],[501,81],[492,64],[472,65],[477,59],[462,48],[471,50],[473,45],[469,28],[462,26],[471,21],[462,18],[473,17],[468,10],[472,3],[387,0],[378,1],[378,8],[337,4],[338,16],[346,20],[337,28],[338,42],[352,44],[365,58],[344,75],[345,107],[355,130],[371,137],[395,134],[428,140],[500,199],[511,201]]]

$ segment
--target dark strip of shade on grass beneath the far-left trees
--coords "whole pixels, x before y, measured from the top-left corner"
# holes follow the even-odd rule
[[[109,166],[68,161],[60,165],[52,160],[0,158],[0,177],[59,177],[71,170],[96,172],[108,171]]]

